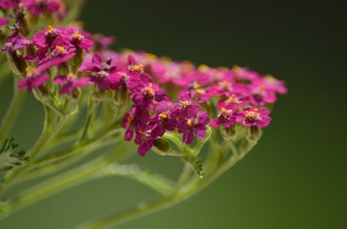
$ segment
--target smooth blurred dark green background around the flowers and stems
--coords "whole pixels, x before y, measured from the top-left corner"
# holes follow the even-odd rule
[[[251,154],[210,187],[130,228],[347,228],[346,13],[308,1],[90,0],[81,19],[115,48],[143,49],[211,66],[249,66],[287,82],[273,122]],[[1,85],[0,115],[10,101]],[[26,100],[14,133],[23,147],[38,136],[40,104]],[[134,153],[135,154],[135,153]],[[144,168],[178,174],[177,158],[134,156]],[[69,229],[156,194],[124,178],[104,178],[41,201],[1,229]]]

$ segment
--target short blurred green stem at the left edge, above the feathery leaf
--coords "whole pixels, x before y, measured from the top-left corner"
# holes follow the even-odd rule
[[[16,84],[17,86],[17,84]],[[14,89],[13,97],[10,102],[10,105],[8,107],[8,110],[6,111],[5,116],[1,120],[0,125],[0,143],[3,141],[3,139],[8,134],[8,131],[12,128],[13,122],[17,118],[17,115],[19,114],[19,109],[22,105],[24,96],[26,95],[26,91],[24,90],[18,90]]]

